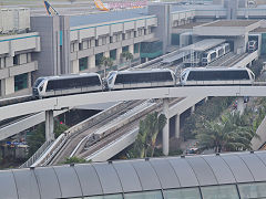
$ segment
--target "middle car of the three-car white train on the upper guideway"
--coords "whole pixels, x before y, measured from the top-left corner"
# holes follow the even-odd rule
[[[113,71],[108,75],[109,90],[175,86],[175,74],[167,69]]]

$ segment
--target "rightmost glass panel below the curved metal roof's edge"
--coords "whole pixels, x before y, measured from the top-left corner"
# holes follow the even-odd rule
[[[238,185],[242,199],[266,198],[266,182]]]

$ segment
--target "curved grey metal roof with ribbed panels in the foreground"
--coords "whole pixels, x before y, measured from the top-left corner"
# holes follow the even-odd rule
[[[266,151],[94,163],[0,171],[0,198],[72,198],[266,182]]]

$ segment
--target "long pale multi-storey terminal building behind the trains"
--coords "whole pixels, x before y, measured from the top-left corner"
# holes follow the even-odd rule
[[[103,56],[112,59],[110,70],[121,70],[206,38],[228,41],[235,53],[244,53],[248,40],[256,40],[258,53],[266,54],[265,11],[265,6],[249,8],[245,0],[219,0],[91,14],[28,14],[27,31],[12,29],[12,35],[2,32],[0,39],[0,98],[30,94],[39,76],[102,73]],[[123,52],[133,60],[126,61]]]

